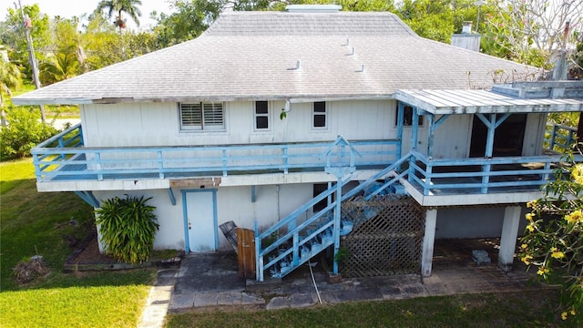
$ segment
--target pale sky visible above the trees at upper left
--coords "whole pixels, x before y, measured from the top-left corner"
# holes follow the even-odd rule
[[[89,14],[97,8],[99,0],[20,0],[21,4],[34,5],[38,4],[41,13],[45,13],[49,17],[59,15],[61,17],[70,18],[72,16],[80,16]],[[142,5],[139,10],[142,15],[139,18],[139,28],[145,29],[152,26],[156,21],[149,19],[149,13],[156,10],[159,13],[170,13],[169,3],[166,0],[141,0]],[[0,20],[5,20],[9,7],[18,5],[18,0],[0,0]],[[113,20],[113,18],[112,18]],[[135,29],[137,26],[134,22],[126,16],[128,28]]]

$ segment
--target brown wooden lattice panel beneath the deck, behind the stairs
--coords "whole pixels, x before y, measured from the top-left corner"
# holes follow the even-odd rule
[[[409,196],[385,195],[364,201],[344,201],[343,217],[353,231],[341,240],[348,256],[343,277],[374,277],[419,273],[424,235],[424,211]]]

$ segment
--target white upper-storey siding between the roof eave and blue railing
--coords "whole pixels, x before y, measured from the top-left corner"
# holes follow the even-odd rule
[[[283,101],[270,101],[270,130],[254,130],[254,103],[228,102],[225,131],[180,131],[176,103],[84,105],[87,146],[180,146],[396,138],[394,101],[328,102],[328,127],[312,128],[312,103],[292,104],[280,119]]]

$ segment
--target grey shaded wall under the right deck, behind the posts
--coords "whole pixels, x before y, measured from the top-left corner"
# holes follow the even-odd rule
[[[499,238],[502,234],[504,207],[465,207],[437,210],[435,238]],[[518,235],[526,227],[524,215],[527,208],[521,210]]]

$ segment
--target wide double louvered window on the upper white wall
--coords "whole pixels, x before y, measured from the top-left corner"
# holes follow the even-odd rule
[[[218,130],[225,128],[222,103],[179,104],[180,129]]]

